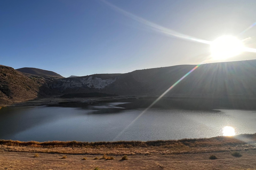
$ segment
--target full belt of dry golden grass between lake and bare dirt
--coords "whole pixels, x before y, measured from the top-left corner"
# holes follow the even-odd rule
[[[248,144],[248,143],[249,144]],[[250,144],[252,143],[252,144]],[[0,140],[0,149],[15,152],[37,152],[49,154],[81,154],[107,156],[134,155],[177,155],[220,151],[240,151],[256,149],[256,134],[236,137],[215,137],[209,139],[182,139],[168,141],[118,141],[118,142],[20,142]],[[105,155],[105,156],[104,156]]]

